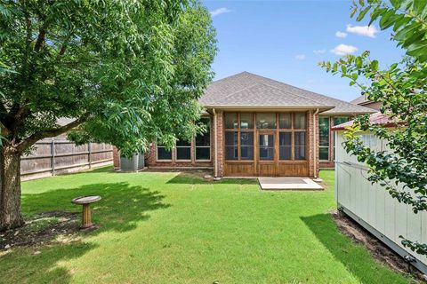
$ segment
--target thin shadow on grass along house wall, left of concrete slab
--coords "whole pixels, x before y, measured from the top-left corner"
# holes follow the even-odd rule
[[[191,172],[180,172],[176,177],[171,178],[166,184],[180,185],[257,185],[256,178],[222,178],[218,181],[206,180]]]

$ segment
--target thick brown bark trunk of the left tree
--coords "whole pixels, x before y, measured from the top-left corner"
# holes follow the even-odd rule
[[[20,152],[0,148],[0,231],[24,225],[20,214]]]

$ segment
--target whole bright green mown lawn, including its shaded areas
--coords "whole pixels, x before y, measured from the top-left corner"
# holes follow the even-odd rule
[[[254,180],[109,169],[23,183],[26,217],[79,210],[101,194],[81,241],[14,248],[4,283],[407,283],[337,232],[334,171],[325,192],[261,192]]]

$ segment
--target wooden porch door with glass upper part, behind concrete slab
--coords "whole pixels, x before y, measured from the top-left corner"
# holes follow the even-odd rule
[[[258,176],[274,177],[277,175],[276,132],[258,131]]]

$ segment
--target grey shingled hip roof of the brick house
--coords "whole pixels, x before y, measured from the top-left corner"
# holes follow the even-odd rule
[[[367,114],[374,111],[312,91],[242,72],[215,81],[199,99],[206,107],[319,108],[323,114]]]

